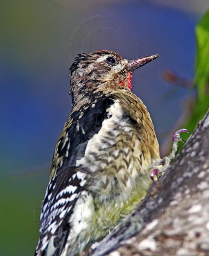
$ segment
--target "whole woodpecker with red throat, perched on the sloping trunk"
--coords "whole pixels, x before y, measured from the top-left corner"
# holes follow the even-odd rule
[[[80,254],[106,236],[174,157],[182,130],[173,155],[161,159],[150,114],[131,92],[132,72],[158,56],[125,60],[96,51],[75,58],[72,109],[52,158],[36,256]]]

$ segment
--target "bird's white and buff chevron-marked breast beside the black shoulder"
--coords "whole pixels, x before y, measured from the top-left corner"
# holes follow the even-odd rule
[[[76,166],[91,173],[89,190],[98,201],[123,202],[136,187],[137,178],[147,173],[151,154],[143,145],[143,129],[130,123],[119,100],[107,112],[108,118],[89,140],[85,155],[76,161]]]

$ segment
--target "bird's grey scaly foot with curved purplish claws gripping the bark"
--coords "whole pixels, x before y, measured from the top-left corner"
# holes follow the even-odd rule
[[[182,132],[190,133],[187,129],[180,129],[176,131],[173,135],[173,145],[172,145],[171,153],[168,156],[163,157],[160,161],[157,161],[148,167],[148,169],[152,169],[154,167],[160,166],[159,169],[154,169],[153,171],[151,171],[150,178],[152,180],[155,180],[155,181],[159,180],[159,178],[165,173],[166,169],[168,168],[171,161],[175,157],[175,153],[178,148],[178,142],[182,141],[183,143],[185,143],[185,141],[180,137],[180,134]]]

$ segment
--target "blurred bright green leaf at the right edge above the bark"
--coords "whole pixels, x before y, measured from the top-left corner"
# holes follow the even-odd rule
[[[184,128],[193,132],[198,121],[203,118],[209,107],[209,10],[197,24],[196,33],[196,63],[195,77],[192,90],[197,91],[195,99],[189,97],[188,107],[191,106],[191,116]],[[188,138],[188,135],[182,134],[182,138]],[[182,147],[182,145],[180,145]]]

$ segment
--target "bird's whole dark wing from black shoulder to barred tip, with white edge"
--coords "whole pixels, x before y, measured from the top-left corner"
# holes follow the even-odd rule
[[[66,122],[58,139],[52,160],[52,170],[54,171],[51,173],[51,179],[42,206],[40,217],[41,235],[35,255],[42,255],[42,252],[46,249],[46,256],[61,255],[61,248],[70,247],[70,243],[77,243],[78,247],[88,243],[86,233],[88,233],[88,228],[91,228],[91,225],[89,225],[91,212],[90,216],[88,212],[89,209],[94,207],[93,199],[85,190],[88,171],[78,170],[75,166],[76,161],[85,155],[88,141],[94,134],[99,132],[103,121],[108,118],[107,109],[113,103],[112,99],[103,97],[97,101],[97,104],[92,104],[88,108],[85,107],[79,111],[73,111],[70,115],[70,124],[68,121]],[[75,223],[72,224],[73,221],[70,218],[73,215],[74,208],[76,205],[79,207],[79,204],[83,207],[83,213],[85,212],[82,215],[82,220],[86,218],[86,222],[82,221],[80,223],[75,220]],[[79,212],[77,212],[76,216],[77,218],[79,217]],[[77,225],[77,223],[80,224]],[[88,223],[88,225],[85,226],[85,223]],[[81,234],[80,241],[75,242],[75,240],[72,240],[67,242],[73,236],[71,229],[73,229],[72,232],[75,235],[77,232]],[[51,241],[53,241],[52,245]],[[54,251],[60,250],[60,252],[49,254],[49,248],[53,248]],[[79,250],[82,251],[82,248],[77,249],[78,252]],[[63,250],[65,251],[65,249]],[[71,251],[72,255],[75,253],[77,251]]]

